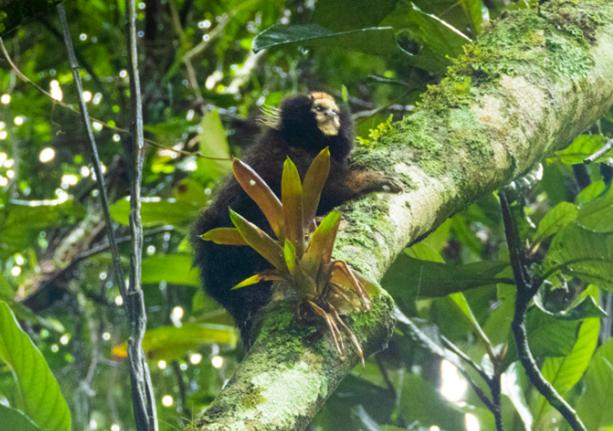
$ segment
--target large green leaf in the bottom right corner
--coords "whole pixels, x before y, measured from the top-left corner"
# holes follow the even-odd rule
[[[585,391],[577,399],[577,414],[588,430],[613,426],[613,338],[604,343],[587,367]]]

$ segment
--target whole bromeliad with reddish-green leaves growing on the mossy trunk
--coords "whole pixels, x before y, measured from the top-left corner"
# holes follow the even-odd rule
[[[370,311],[366,289],[370,282],[349,269],[345,262],[332,260],[340,213],[329,213],[319,226],[314,219],[330,171],[329,149],[325,148],[314,158],[302,184],[294,163],[289,158],[285,161],[281,201],[247,164],[235,159],[232,171],[245,192],[261,208],[277,238],[273,239],[231,208],[230,219],[236,227],[220,227],[201,236],[218,244],[251,246],[274,267],[247,278],[233,289],[260,281],[286,281],[297,293],[299,310],[307,305],[324,319],[340,358],[346,358],[341,335],[344,332],[364,364],[362,348],[340,314],[346,314],[349,308]]]

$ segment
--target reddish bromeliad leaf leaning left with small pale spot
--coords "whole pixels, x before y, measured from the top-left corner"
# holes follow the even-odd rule
[[[257,172],[251,169],[248,164],[235,159],[234,163],[232,163],[232,171],[240,186],[262,210],[276,237],[283,242],[285,239],[283,208],[281,208],[281,202],[278,197],[276,197],[265,181],[262,180],[262,177],[257,175]]]

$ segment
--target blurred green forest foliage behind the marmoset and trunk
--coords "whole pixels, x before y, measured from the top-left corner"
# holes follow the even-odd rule
[[[90,115],[110,126],[94,122],[115,228],[124,237],[130,151],[129,135],[120,130],[129,129],[124,2],[73,0],[65,7]],[[191,153],[150,145],[143,173],[144,348],[161,429],[176,429],[197,418],[242,356],[231,319],[198,286],[186,240],[230,164],[195,154],[240,156],[259,133],[262,106],[308,90],[340,99],[343,85],[360,142],[376,145],[390,116],[411,115],[420,94],[440,82],[451,58],[489,20],[530,5],[147,0],[138,7],[147,137]],[[18,69],[76,107],[58,18],[49,11],[3,9],[0,31]],[[82,125],[74,112],[21,80],[5,58],[0,67],[0,300],[6,302],[0,418],[14,429],[134,429],[126,318]],[[611,136],[611,121],[609,114],[543,161],[538,181],[514,187],[522,241],[535,271],[549,281],[528,310],[528,340],[543,374],[590,430],[613,427],[611,409],[602,408],[613,405],[611,319],[598,308],[611,315],[613,195],[610,159],[589,165],[583,159]],[[444,335],[485,372],[501,373],[504,429],[565,429],[517,362],[508,255],[495,195],[408,248],[383,280],[399,307],[394,339],[343,381],[311,429],[472,431],[474,422],[494,429],[474,389],[414,341],[401,313],[436,343]],[[29,343],[27,359],[14,356],[23,349],[17,342]],[[48,369],[63,396],[48,381]],[[489,393],[478,376],[471,378]],[[28,382],[39,386],[28,391]],[[42,390],[46,402],[67,403],[70,410],[53,427],[45,422],[48,412],[28,407],[31,394]]]

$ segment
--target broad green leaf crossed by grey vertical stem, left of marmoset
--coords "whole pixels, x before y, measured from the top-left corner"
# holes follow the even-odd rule
[[[128,226],[130,224],[130,201],[121,199],[111,205],[110,213],[115,221]],[[200,213],[200,205],[194,202],[181,202],[174,199],[145,199],[140,203],[140,216],[143,226],[164,224],[186,225]]]

